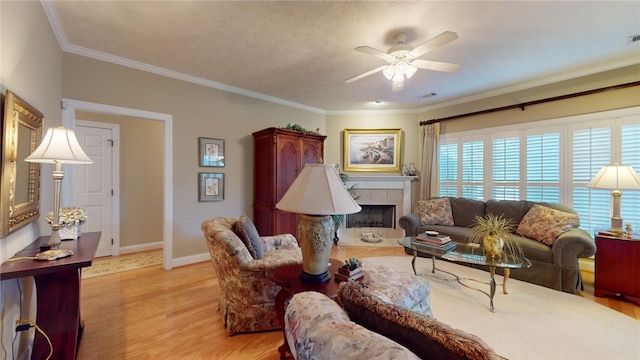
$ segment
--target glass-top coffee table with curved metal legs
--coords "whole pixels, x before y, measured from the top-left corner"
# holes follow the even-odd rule
[[[456,247],[450,250],[445,250],[441,248],[437,248],[434,246],[429,246],[427,244],[416,241],[415,236],[408,236],[398,240],[398,243],[404,246],[406,249],[409,249],[413,254],[413,259],[411,259],[411,267],[413,268],[413,273],[418,275],[416,272],[416,257],[418,257],[418,253],[425,254],[431,257],[432,268],[431,272],[435,273],[436,270],[443,272],[445,274],[449,274],[454,277],[454,281],[457,281],[460,285],[467,287],[472,290],[479,291],[489,297],[489,310],[494,311],[493,306],[493,297],[496,293],[496,280],[495,280],[495,271],[497,268],[504,269],[504,279],[502,281],[502,292],[507,294],[507,280],[509,279],[510,270],[511,269],[522,269],[531,267],[531,261],[529,259],[512,255],[512,254],[502,254],[500,259],[487,259],[482,254],[482,249],[478,246],[470,246],[467,244],[456,243]],[[476,289],[471,287],[463,282],[463,280],[471,280],[480,283],[485,283],[483,281],[479,281],[476,279],[463,279],[458,275],[450,273],[448,271],[444,271],[442,269],[438,269],[436,267],[436,258],[445,259],[457,263],[463,264],[473,264],[473,265],[481,265],[489,268],[489,292],[484,290]]]

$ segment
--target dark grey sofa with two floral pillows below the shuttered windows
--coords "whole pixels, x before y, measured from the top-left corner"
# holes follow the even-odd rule
[[[479,201],[434,198],[419,201],[418,214],[402,216],[398,223],[406,236],[426,230],[469,241],[476,216],[503,215],[516,228],[513,239],[531,261],[528,269],[512,269],[511,277],[568,293],[583,289],[578,258],[595,254],[593,238],[578,228],[578,215],[566,206],[525,200]]]

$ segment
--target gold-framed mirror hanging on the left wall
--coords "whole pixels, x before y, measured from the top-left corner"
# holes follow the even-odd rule
[[[0,238],[4,238],[40,215],[40,164],[24,159],[40,142],[44,116],[9,90],[1,103]]]

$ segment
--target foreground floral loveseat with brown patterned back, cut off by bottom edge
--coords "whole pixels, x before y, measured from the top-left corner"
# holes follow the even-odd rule
[[[404,285],[395,289],[389,283],[377,288],[373,283],[344,282],[340,284],[337,302],[318,292],[294,295],[285,311],[285,336],[293,357],[297,360],[499,358],[480,338],[434,319],[428,306],[423,306],[421,312],[402,306],[416,300],[408,296],[405,301],[398,301],[403,300],[398,295],[408,295],[403,290],[405,285],[428,289],[428,282],[425,286],[426,280],[420,279],[416,286],[410,281],[418,277],[408,273],[398,275],[404,279]]]

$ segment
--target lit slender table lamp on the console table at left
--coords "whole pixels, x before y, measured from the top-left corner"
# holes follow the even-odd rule
[[[80,147],[73,130],[62,126],[49,128],[44,139],[36,150],[27,156],[25,161],[55,164],[53,171],[53,221],[51,222],[51,237],[49,250],[36,255],[37,260],[55,260],[73,255],[71,250],[60,249],[60,187],[64,172],[62,164],[91,164],[93,161]]]

